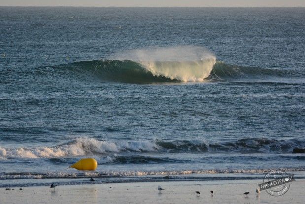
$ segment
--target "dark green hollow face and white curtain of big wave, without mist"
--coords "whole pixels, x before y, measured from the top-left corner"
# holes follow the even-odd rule
[[[94,60],[54,66],[59,71],[70,70],[76,75],[88,72],[104,81],[126,83],[195,82],[204,81],[215,64],[215,58],[200,61]],[[85,76],[88,77],[88,76]]]

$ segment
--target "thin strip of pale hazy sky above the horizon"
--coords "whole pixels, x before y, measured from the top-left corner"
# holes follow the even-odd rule
[[[305,7],[305,0],[0,0],[0,6]]]

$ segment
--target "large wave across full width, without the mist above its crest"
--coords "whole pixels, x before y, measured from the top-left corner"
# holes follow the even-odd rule
[[[3,74],[3,75],[2,75]],[[0,82],[7,83],[24,77],[34,81],[43,79],[44,83],[69,81],[102,81],[124,83],[166,83],[166,82],[260,82],[273,80],[275,83],[295,83],[305,77],[303,68],[259,68],[230,65],[208,57],[197,61],[131,61],[131,60],[93,60],[63,65],[39,67],[35,69],[1,70],[0,76],[8,76]],[[10,77],[12,79],[10,79]],[[28,79],[28,80],[29,80]],[[278,80],[285,79],[285,80]],[[61,82],[61,81],[60,81]]]

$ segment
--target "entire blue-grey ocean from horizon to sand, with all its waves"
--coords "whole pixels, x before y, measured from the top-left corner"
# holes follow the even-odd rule
[[[0,187],[305,177],[304,37],[305,8],[0,7]]]

